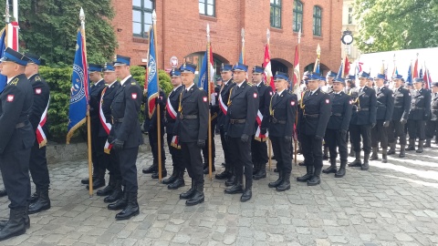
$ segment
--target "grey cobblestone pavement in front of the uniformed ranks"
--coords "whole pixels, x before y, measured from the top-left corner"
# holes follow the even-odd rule
[[[217,153],[221,171],[224,157]],[[344,179],[322,174],[317,187],[295,181],[306,169],[294,166],[286,192],[267,187],[277,178],[269,171],[267,179],[255,180],[253,199],[245,203],[240,195],[225,195],[223,181],[206,179],[205,202],[194,207],[179,200],[190,179],[180,190],[167,190],[141,173],[151,164],[151,153],[141,153],[141,214],[125,221],[114,220],[103,198],[89,198],[80,184],[88,175],[86,160],[57,163],[49,166],[52,208],[31,215],[25,235],[0,244],[438,245],[438,146],[407,153],[386,164],[371,161],[370,171],[348,168]],[[0,199],[2,217],[7,203]]]

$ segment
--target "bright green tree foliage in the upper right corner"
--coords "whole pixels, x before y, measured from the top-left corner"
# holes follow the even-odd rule
[[[438,0],[355,0],[354,13],[362,52],[438,45]]]

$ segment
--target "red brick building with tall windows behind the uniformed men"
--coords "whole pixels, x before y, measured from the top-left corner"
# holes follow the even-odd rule
[[[264,60],[266,29],[270,30],[273,72],[293,73],[297,33],[302,28],[301,73],[313,68],[316,49],[321,46],[321,70],[337,71],[341,59],[341,0],[132,0],[113,1],[113,26],[119,41],[116,51],[130,56],[134,65],[146,65],[151,10],[157,13],[158,65],[171,69],[177,56],[202,61],[206,48],[206,25],[214,53],[214,66],[238,61],[245,28],[245,60],[249,67]]]

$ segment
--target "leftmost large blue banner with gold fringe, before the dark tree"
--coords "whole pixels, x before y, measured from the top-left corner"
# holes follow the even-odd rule
[[[86,122],[89,99],[87,54],[82,34],[78,31],[75,61],[71,76],[70,108],[68,111],[67,143],[77,128]]]

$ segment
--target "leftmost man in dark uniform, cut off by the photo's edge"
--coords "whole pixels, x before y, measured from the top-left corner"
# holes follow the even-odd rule
[[[25,75],[28,61],[9,47],[0,59],[1,74],[7,77],[5,90],[0,94],[0,170],[11,201],[9,220],[0,223],[0,241],[24,234],[30,227],[29,158],[35,130],[28,119],[34,101],[32,85]]]

